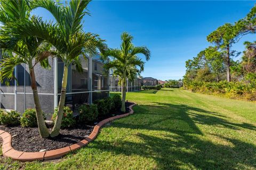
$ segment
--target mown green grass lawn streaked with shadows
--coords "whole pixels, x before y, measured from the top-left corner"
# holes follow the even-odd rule
[[[76,154],[6,169],[256,169],[256,104],[164,88],[127,93],[135,114]],[[5,164],[6,165],[6,164]]]

